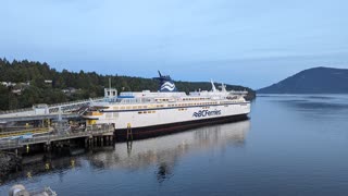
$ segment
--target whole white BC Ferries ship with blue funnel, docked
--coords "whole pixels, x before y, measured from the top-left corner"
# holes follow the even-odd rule
[[[210,91],[177,91],[170,76],[159,72],[158,91],[105,89],[107,98],[94,102],[84,118],[87,125],[112,124],[117,138],[124,139],[132,128],[133,137],[141,138],[191,127],[247,119],[250,102],[247,91],[217,90],[211,82]]]

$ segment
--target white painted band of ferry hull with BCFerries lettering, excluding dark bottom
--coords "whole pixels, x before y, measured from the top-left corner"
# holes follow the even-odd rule
[[[146,113],[144,113],[144,111],[146,111]],[[105,110],[103,117],[99,119],[99,122],[114,124],[115,130],[124,130],[127,128],[128,125],[132,128],[138,128],[187,121],[241,115],[248,114],[249,112],[250,102],[207,107],[161,108],[135,111]]]

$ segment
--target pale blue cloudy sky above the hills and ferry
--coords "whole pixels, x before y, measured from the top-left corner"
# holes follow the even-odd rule
[[[1,0],[0,57],[258,89],[309,68],[348,69],[347,8],[347,0]]]

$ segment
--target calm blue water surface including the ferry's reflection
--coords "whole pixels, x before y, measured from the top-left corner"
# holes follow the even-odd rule
[[[59,195],[348,195],[348,96],[263,96],[249,121],[65,157],[1,182]]]

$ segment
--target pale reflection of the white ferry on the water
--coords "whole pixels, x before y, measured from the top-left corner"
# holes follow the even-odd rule
[[[249,128],[249,120],[206,126],[162,137],[116,144],[114,150],[95,152],[88,159],[91,166],[97,168],[138,170],[157,166],[157,177],[161,182],[172,175],[175,162],[189,152],[223,149],[227,145],[244,147]]]

